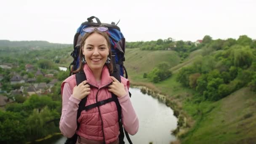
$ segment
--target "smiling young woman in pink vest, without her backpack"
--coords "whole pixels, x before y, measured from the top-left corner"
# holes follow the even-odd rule
[[[117,106],[114,101],[87,111],[83,110],[77,120],[77,109],[81,99],[87,96],[85,106],[112,97],[112,93],[122,107],[122,122],[125,130],[134,135],[139,129],[139,120],[128,94],[129,81],[121,77],[121,83],[110,76],[113,72],[111,44],[107,27],[84,29],[81,41],[80,67],[87,80],[76,86],[75,75],[61,84],[62,113],[59,128],[70,138],[78,135],[77,144],[119,144],[119,124]],[[77,121],[80,123],[77,130]]]

